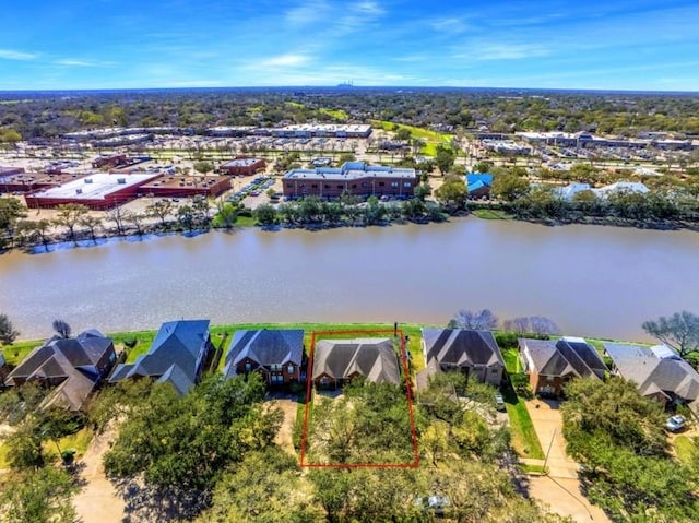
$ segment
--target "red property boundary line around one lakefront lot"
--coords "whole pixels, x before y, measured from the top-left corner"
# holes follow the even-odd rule
[[[405,395],[407,397],[407,415],[411,421],[411,439],[413,441],[413,461],[410,463],[305,463],[306,439],[308,436],[308,411],[310,405],[312,382],[313,382],[313,354],[316,352],[316,336],[346,334],[351,336],[366,336],[367,334],[390,334],[387,337],[400,336],[401,361],[403,364],[403,375],[405,376]],[[308,368],[306,370],[306,404],[304,406],[304,428],[301,432],[300,466],[305,468],[417,468],[419,467],[419,451],[417,449],[417,433],[415,430],[415,416],[413,414],[413,391],[411,389],[410,370],[407,368],[407,353],[405,349],[405,336],[401,329],[396,330],[364,330],[364,331],[313,331],[310,340],[310,355],[308,357]]]

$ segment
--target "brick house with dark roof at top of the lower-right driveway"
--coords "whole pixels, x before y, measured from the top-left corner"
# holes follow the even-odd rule
[[[535,394],[557,396],[573,378],[604,379],[608,370],[582,337],[518,341],[524,371]]]

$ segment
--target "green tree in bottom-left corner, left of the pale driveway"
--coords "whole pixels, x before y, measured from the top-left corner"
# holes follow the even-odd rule
[[[52,467],[10,477],[0,494],[3,523],[72,523],[76,519],[73,478]]]

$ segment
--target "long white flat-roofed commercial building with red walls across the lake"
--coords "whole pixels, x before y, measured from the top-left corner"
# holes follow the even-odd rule
[[[157,178],[158,174],[108,175],[93,174],[58,187],[24,197],[28,207],[55,207],[66,203],[80,203],[90,209],[105,210],[137,198],[141,186]]]

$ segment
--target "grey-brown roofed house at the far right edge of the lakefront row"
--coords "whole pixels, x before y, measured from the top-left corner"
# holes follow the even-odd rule
[[[662,405],[689,404],[697,411],[699,373],[673,349],[665,345],[605,343],[604,350],[614,362],[612,371],[633,381],[641,395]]]

